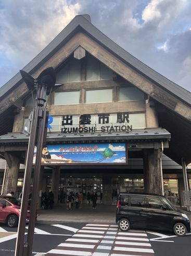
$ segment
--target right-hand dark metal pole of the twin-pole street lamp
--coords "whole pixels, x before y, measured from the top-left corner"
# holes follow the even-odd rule
[[[37,194],[39,191],[39,177],[41,170],[41,158],[42,158],[42,147],[44,141],[44,128],[46,122],[46,109],[43,110],[43,118],[40,119],[39,125],[39,134],[37,141],[37,150],[36,150],[36,162],[34,168],[34,177],[33,177],[33,191],[32,191],[32,199],[31,199],[31,211],[30,211],[30,222],[28,228],[28,251],[24,252],[23,256],[31,256],[32,255],[32,245],[33,245],[33,237],[34,237],[34,227],[36,220],[36,206],[37,206]]]

